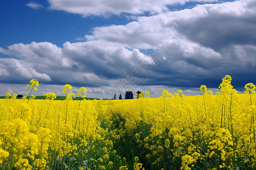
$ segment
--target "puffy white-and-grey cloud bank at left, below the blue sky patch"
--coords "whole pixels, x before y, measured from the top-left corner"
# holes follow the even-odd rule
[[[144,57],[138,49],[103,44],[65,42],[60,48],[49,42],[31,42],[8,46],[2,53],[15,58],[0,58],[0,80],[7,83],[38,78],[51,84],[110,86],[110,79],[122,78],[134,62]]]

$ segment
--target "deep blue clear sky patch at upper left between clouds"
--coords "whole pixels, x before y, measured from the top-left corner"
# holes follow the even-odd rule
[[[100,16],[82,18],[48,8],[47,1],[5,1],[1,6],[0,46],[7,47],[15,43],[30,44],[32,41],[48,41],[63,46],[66,41],[76,42],[77,37],[90,34],[94,27],[126,24],[129,21],[120,16],[104,18]],[[42,5],[38,9],[29,3]],[[15,5],[14,5],[15,4]]]

